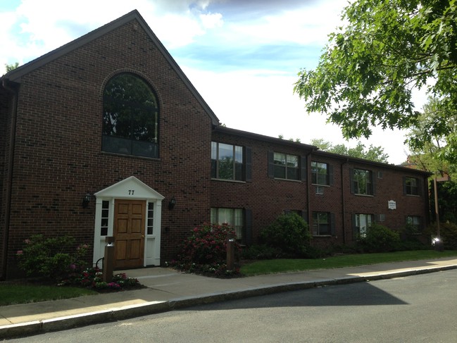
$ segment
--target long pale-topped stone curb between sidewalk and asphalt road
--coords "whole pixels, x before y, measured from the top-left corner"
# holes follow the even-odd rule
[[[68,330],[73,328],[80,328],[86,325],[115,322],[117,320],[125,320],[139,316],[148,316],[154,313],[174,311],[180,308],[187,308],[203,304],[212,304],[215,302],[258,297],[261,295],[290,292],[315,287],[325,287],[330,285],[346,285],[355,282],[370,282],[373,280],[384,280],[392,279],[395,277],[435,273],[451,269],[457,269],[457,265],[406,270],[398,273],[373,273],[373,275],[348,276],[340,277],[337,279],[315,280],[311,282],[291,282],[265,287],[253,287],[250,289],[243,289],[233,292],[221,292],[204,294],[195,297],[175,298],[168,301],[149,301],[144,304],[134,304],[130,306],[123,306],[121,308],[110,308],[104,311],[94,311],[74,316],[65,316],[46,320],[34,320],[27,323],[3,325],[0,327],[0,339],[26,337],[31,335],[39,335],[44,332]]]

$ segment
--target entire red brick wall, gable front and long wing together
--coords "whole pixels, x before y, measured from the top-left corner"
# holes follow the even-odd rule
[[[230,130],[212,132],[208,113],[149,35],[138,27],[127,23],[23,76],[17,114],[8,273],[14,271],[15,251],[30,235],[67,234],[76,237],[78,243],[92,244],[95,204],[92,201],[88,208],[82,208],[82,197],[131,175],[165,197],[162,262],[173,258],[177,245],[192,227],[210,220],[211,207],[250,209],[254,242],[263,227],[284,211],[299,210],[308,216],[312,211],[331,211],[335,213],[337,235],[313,239],[313,244],[323,247],[351,242],[352,213],[383,213],[384,224],[393,228],[401,227],[406,215],[426,216],[425,196],[403,196],[402,176],[417,176],[413,170],[410,173],[363,162],[342,164],[342,158],[318,153],[307,158],[307,181],[268,177],[268,151],[306,156],[311,147],[250,134],[237,135]],[[160,158],[101,151],[102,92],[109,78],[121,71],[144,77],[158,96]],[[3,112],[0,120],[3,127]],[[251,182],[211,180],[211,140],[252,149]],[[6,145],[0,139],[2,151]],[[1,154],[4,152],[0,153],[4,161]],[[315,194],[311,185],[313,159],[334,167],[334,185],[325,187],[323,195]],[[0,167],[5,170],[2,164]],[[349,168],[354,167],[382,170],[375,197],[351,194]],[[177,204],[170,211],[167,204],[171,197],[175,197]],[[389,211],[387,201],[391,199],[396,201],[397,209]]]

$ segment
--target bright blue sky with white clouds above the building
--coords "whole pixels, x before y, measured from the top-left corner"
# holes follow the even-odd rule
[[[346,141],[294,94],[301,68],[318,66],[345,0],[0,0],[0,75],[137,9],[220,123],[270,137]],[[425,96],[416,94],[418,110]],[[406,161],[405,132],[375,128],[365,146]]]

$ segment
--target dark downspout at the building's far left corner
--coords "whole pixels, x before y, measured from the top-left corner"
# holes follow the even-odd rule
[[[4,79],[2,82],[4,89],[13,94],[13,108],[11,113],[11,127],[10,127],[10,146],[8,151],[8,176],[6,177],[6,204],[5,204],[5,227],[3,235],[2,247],[2,269],[3,273],[0,275],[0,280],[6,279],[6,268],[8,266],[8,239],[9,239],[9,225],[10,225],[10,212],[11,212],[11,193],[13,188],[13,166],[14,166],[14,151],[15,151],[15,133],[16,133],[16,115],[18,113],[18,88],[17,84]]]

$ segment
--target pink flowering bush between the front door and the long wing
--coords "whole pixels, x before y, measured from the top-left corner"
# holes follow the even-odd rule
[[[169,266],[204,275],[217,277],[239,275],[239,266],[227,270],[227,235],[235,235],[227,224],[203,224],[195,227],[191,235],[184,239],[177,259],[170,261]],[[240,247],[234,242],[235,260],[238,261]]]

